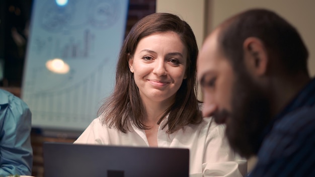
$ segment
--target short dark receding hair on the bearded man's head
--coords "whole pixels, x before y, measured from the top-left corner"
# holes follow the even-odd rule
[[[257,37],[266,47],[269,59],[279,59],[277,62],[287,74],[308,73],[308,52],[300,35],[276,13],[264,9],[245,11],[225,21],[220,28],[218,43],[233,67],[242,67],[244,41]]]

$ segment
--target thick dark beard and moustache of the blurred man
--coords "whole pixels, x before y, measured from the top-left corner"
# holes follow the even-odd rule
[[[239,73],[232,88],[231,112],[222,110],[214,117],[224,116],[230,146],[243,157],[257,154],[260,136],[270,120],[268,98],[246,73]]]

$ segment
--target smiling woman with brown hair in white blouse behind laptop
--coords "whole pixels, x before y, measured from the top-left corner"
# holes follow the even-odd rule
[[[187,148],[191,176],[245,174],[224,126],[201,116],[197,55],[195,36],[178,16],[140,20],[120,51],[113,94],[75,143]]]

